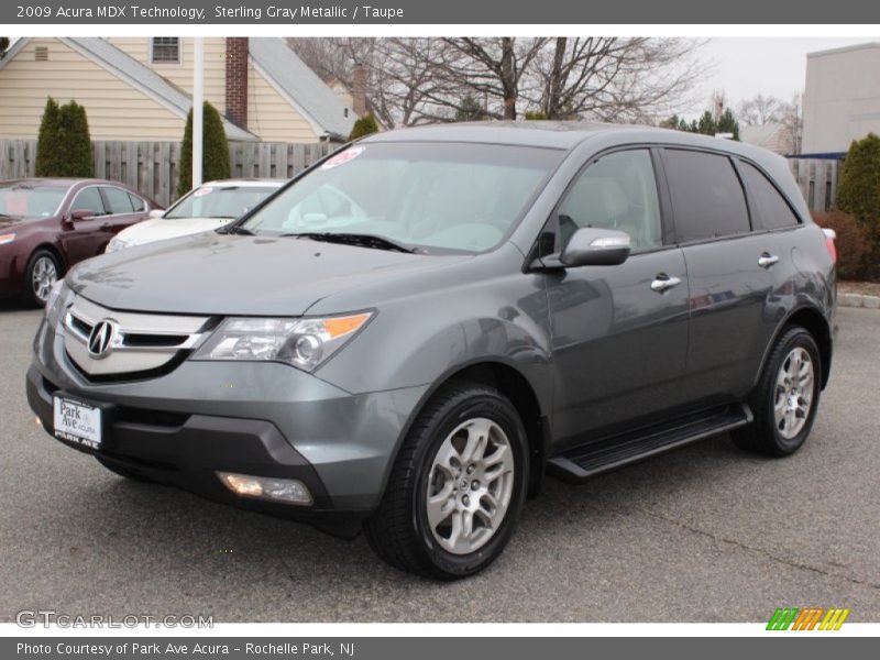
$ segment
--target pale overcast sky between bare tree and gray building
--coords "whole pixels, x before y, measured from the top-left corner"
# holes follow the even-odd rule
[[[713,90],[723,89],[734,108],[743,99],[759,94],[788,100],[794,92],[803,91],[807,53],[871,41],[880,41],[880,35],[873,38],[714,38],[703,47],[701,58],[715,66],[697,97],[703,97],[705,101],[702,102],[708,107]],[[704,109],[694,108],[692,114],[700,114]]]

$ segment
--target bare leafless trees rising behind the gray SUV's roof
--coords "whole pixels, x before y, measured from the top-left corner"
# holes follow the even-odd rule
[[[290,38],[321,77],[369,73],[370,107],[388,128],[454,121],[463,103],[487,119],[656,122],[688,110],[706,68],[700,42],[645,37]]]

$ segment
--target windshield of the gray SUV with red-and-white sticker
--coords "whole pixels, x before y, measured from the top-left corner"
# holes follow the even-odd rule
[[[562,155],[472,143],[353,145],[286,188],[239,229],[324,234],[324,240],[378,237],[419,253],[484,252],[519,220]]]

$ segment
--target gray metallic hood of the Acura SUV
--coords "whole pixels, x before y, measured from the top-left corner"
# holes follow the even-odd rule
[[[208,232],[90,258],[70,271],[67,283],[119,310],[299,316],[333,294],[468,258]],[[365,293],[359,308],[377,302]]]

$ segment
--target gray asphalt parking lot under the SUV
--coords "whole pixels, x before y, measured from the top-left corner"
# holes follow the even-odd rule
[[[437,584],[363,538],[128,482],[34,424],[40,311],[0,305],[0,620],[204,614],[216,622],[757,622],[779,606],[880,620],[880,311],[840,309],[832,383],[787,460],[726,436],[548,481],[485,573]]]

